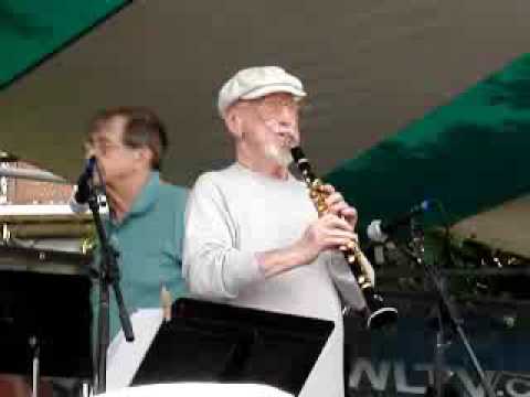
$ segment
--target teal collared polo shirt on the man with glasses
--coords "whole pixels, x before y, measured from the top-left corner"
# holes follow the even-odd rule
[[[186,200],[186,189],[161,182],[159,173],[151,172],[126,216],[120,222],[105,221],[110,243],[119,253],[119,285],[129,314],[140,308],[160,308],[162,286],[173,301],[187,292],[182,278]],[[98,313],[98,288],[95,287],[92,297],[94,334]],[[110,288],[110,340],[120,328]]]

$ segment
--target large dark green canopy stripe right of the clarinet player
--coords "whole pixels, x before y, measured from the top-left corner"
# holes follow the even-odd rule
[[[326,180],[358,208],[361,226],[424,198],[442,201],[454,223],[529,192],[529,150],[527,54]]]

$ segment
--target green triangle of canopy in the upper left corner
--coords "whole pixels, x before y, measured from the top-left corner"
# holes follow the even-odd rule
[[[3,0],[0,3],[0,87],[128,2]]]

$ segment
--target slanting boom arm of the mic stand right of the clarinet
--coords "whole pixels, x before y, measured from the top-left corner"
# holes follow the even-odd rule
[[[445,291],[443,280],[441,279],[442,276],[433,269],[431,265],[428,265],[424,260],[424,246],[423,246],[423,230],[417,223],[416,219],[411,218],[411,235],[412,235],[412,244],[413,244],[413,251],[407,251],[404,250],[411,258],[415,260],[416,264],[423,267],[425,270],[425,273],[427,275],[435,293],[438,297],[438,310],[439,310],[439,315],[447,319],[449,321],[451,326],[453,330],[456,332],[456,334],[460,337],[462,343],[464,344],[464,347],[466,348],[466,352],[471,360],[473,366],[480,379],[480,383],[483,384],[483,387],[486,391],[486,395],[488,397],[496,397],[494,388],[491,387],[491,384],[489,380],[486,378],[486,374],[483,371],[483,367],[480,366],[480,363],[478,362],[478,358],[473,351],[471,345],[469,344],[469,341],[464,332],[464,329],[462,328],[462,319],[458,319],[456,314],[456,310],[453,307],[447,292]],[[441,319],[439,326],[443,326],[443,319]],[[439,379],[439,378],[438,378]],[[439,385],[435,385],[438,390],[441,390]]]

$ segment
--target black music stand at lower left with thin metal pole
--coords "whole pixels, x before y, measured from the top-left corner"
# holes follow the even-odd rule
[[[44,267],[44,266],[43,266]],[[91,280],[83,275],[0,271],[0,373],[89,380]]]

